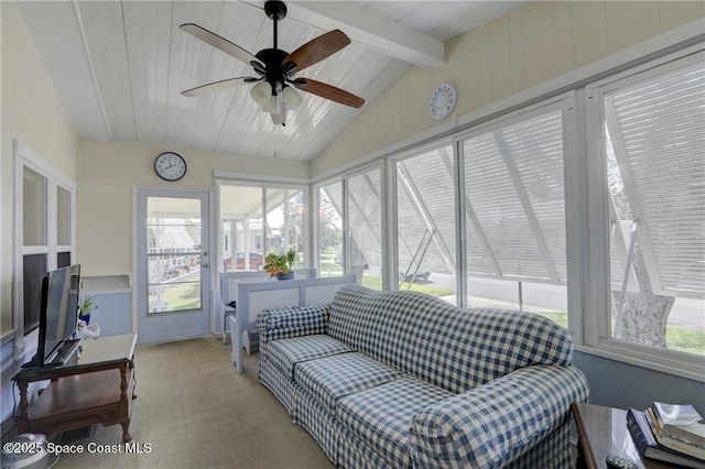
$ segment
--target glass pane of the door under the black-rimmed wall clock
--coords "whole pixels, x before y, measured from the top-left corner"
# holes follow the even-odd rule
[[[148,312],[199,309],[200,200],[149,197],[147,211]]]

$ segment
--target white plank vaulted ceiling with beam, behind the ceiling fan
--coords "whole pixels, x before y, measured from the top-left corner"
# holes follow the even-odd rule
[[[352,43],[301,77],[378,99],[412,65],[443,63],[443,42],[523,1],[288,2],[279,48],[338,28]],[[286,127],[272,124],[249,86],[186,98],[184,89],[252,68],[178,29],[193,22],[257,53],[272,46],[262,1],[20,1],[79,137],[310,160],[364,110],[302,92]]]

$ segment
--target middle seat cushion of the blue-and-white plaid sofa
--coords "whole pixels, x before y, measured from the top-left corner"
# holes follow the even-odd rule
[[[361,353],[339,353],[296,367],[296,383],[333,415],[338,399],[401,377],[397,370]]]

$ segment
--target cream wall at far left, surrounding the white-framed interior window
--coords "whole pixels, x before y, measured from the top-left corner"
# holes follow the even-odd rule
[[[0,312],[1,330],[12,327],[14,264],[14,156],[18,140],[62,173],[76,181],[77,139],[54,85],[14,2],[0,2]],[[11,378],[29,356],[14,361],[14,342],[1,342],[0,421],[12,413]],[[28,353],[31,353],[31,347]],[[26,350],[26,349],[25,349]]]

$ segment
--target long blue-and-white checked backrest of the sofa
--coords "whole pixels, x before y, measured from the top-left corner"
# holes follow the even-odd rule
[[[530,364],[570,364],[567,330],[542,316],[463,309],[419,292],[341,287],[328,334],[404,373],[454,393]]]

